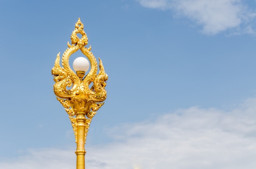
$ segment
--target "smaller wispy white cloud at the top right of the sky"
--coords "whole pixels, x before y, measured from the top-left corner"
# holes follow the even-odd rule
[[[249,11],[241,0],[137,0],[143,7],[172,9],[202,26],[202,32],[217,34],[227,29],[254,33],[250,21],[256,13]],[[241,27],[244,27],[241,29]]]

